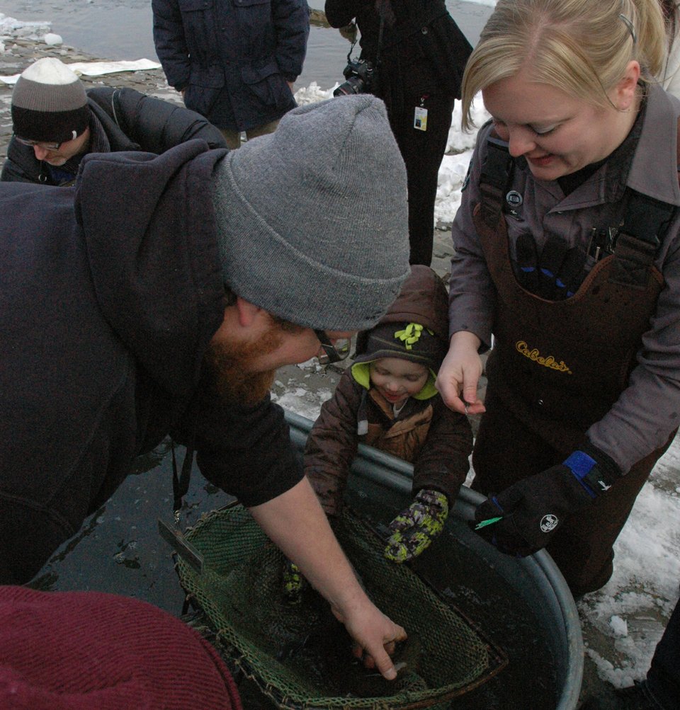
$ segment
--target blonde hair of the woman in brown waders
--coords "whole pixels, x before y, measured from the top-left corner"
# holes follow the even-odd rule
[[[608,106],[630,60],[653,81],[666,53],[658,0],[498,0],[463,75],[463,129],[477,92],[527,67],[532,81]]]

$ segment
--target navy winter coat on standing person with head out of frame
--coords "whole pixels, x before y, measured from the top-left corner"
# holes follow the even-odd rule
[[[168,84],[222,129],[246,131],[296,106],[309,35],[306,0],[153,0]]]

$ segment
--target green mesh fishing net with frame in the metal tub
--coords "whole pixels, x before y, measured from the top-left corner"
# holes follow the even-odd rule
[[[409,633],[393,682],[367,670],[352,640],[311,587],[292,605],[282,594],[284,557],[240,505],[215,510],[186,532],[203,555],[197,574],[178,559],[180,582],[217,632],[223,655],[282,709],[398,710],[446,707],[504,667],[505,659],[449,601],[345,510],[335,534],[372,601]],[[444,703],[444,704],[443,704]]]

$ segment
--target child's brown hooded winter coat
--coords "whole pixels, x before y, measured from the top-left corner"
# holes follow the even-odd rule
[[[410,322],[441,339],[443,357],[448,342],[446,288],[424,266],[413,267],[399,297],[376,327]],[[367,332],[357,337],[357,354],[369,362],[372,351]],[[360,429],[365,432],[360,434]],[[345,371],[333,397],[323,403],[304,457],[305,474],[329,515],[342,508],[350,465],[360,443],[414,464],[414,495],[422,488],[435,488],[452,502],[470,468],[473,435],[468,418],[446,407],[438,393],[426,399],[409,397],[395,417],[392,405],[376,388],[365,388],[351,370]]]

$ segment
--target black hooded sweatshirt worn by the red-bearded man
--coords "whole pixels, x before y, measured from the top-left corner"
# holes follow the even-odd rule
[[[301,479],[281,408],[201,378],[225,152],[93,153],[75,188],[0,183],[0,582],[33,577],[168,432],[246,506]]]

